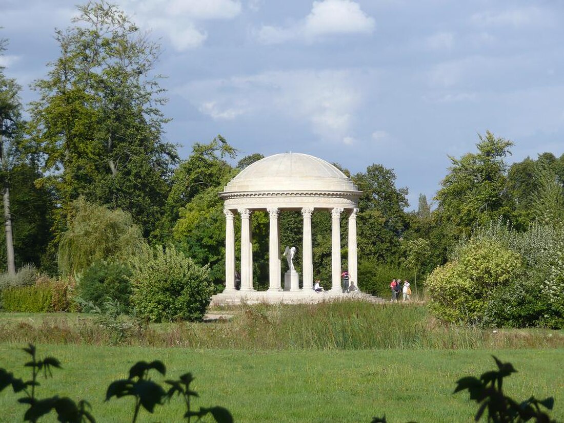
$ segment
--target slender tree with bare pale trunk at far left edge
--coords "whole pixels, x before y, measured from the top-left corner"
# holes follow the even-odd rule
[[[0,39],[0,56],[6,50],[5,39]],[[6,78],[0,66],[0,176],[2,179],[2,199],[4,203],[4,225],[6,238],[6,259],[8,274],[16,274],[14,256],[14,237],[12,236],[12,216],[10,211],[10,184],[8,175],[14,164],[14,139],[21,130],[21,87],[15,79]]]

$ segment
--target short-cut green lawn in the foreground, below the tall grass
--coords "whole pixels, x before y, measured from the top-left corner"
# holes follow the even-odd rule
[[[21,346],[0,344],[0,367],[20,377],[27,376]],[[518,400],[553,396],[552,416],[564,420],[563,349],[241,351],[39,345],[38,358],[52,355],[64,367],[47,383],[41,380],[45,386],[39,396],[85,398],[97,421],[130,421],[131,399],[104,403],[105,389],[126,377],[137,360],[160,359],[167,377],[186,371],[196,376],[197,406],[226,407],[239,422],[369,422],[384,413],[391,423],[470,422],[477,407],[467,394],[452,391],[460,377],[493,369],[492,353],[518,370],[506,380],[507,393]],[[0,422],[22,421],[24,407],[16,398],[11,390],[0,393]],[[143,413],[139,421],[181,421],[182,410],[177,399],[154,415]]]

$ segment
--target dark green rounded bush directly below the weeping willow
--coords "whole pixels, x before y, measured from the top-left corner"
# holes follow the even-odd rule
[[[78,278],[77,292],[84,301],[102,308],[108,297],[130,306],[131,270],[119,262],[96,261]]]

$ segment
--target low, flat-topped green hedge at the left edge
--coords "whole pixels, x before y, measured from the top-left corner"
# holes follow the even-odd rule
[[[46,313],[52,311],[53,295],[50,286],[11,287],[2,291],[5,311]]]

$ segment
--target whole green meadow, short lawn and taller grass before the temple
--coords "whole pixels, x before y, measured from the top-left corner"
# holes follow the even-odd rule
[[[130,421],[128,398],[104,402],[110,382],[138,360],[161,360],[166,377],[190,371],[195,406],[223,406],[235,421],[389,422],[472,421],[468,394],[453,395],[456,380],[495,368],[491,355],[518,373],[506,393],[524,400],[553,396],[553,418],[564,420],[564,333],[541,329],[482,330],[446,326],[425,306],[337,302],[301,306],[246,306],[214,310],[230,316],[208,323],[161,323],[111,333],[92,315],[0,314],[0,367],[26,376],[26,342],[38,357],[61,360],[39,397],[85,398],[100,422]],[[24,407],[0,393],[0,422],[21,421]],[[180,421],[173,400],[139,421]],[[42,421],[55,421],[54,418]]]

